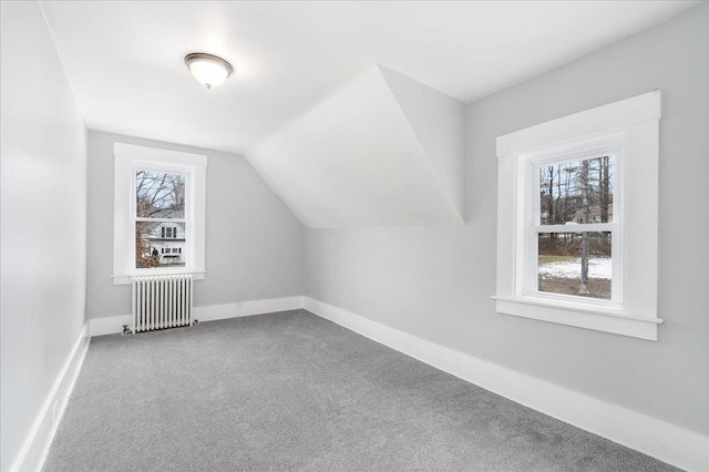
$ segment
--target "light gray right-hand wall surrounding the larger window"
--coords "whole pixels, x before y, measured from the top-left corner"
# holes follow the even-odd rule
[[[417,337],[708,433],[706,7],[467,109],[464,228],[307,230],[307,295]],[[655,89],[659,341],[495,312],[495,137]]]

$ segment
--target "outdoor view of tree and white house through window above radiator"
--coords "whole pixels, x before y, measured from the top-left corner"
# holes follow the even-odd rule
[[[184,267],[185,175],[135,172],[135,267]]]

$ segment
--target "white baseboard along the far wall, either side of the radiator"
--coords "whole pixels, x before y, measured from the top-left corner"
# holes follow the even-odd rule
[[[234,304],[208,305],[194,308],[194,318],[202,321],[237,318],[243,316],[270,314],[302,308],[304,297],[271,298],[268,300],[237,301]],[[123,332],[123,325],[133,322],[131,315],[119,315],[89,320],[91,336],[115,335]]]

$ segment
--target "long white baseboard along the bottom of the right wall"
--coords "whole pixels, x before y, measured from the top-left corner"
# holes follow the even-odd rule
[[[417,338],[305,297],[305,308],[440,370],[688,471],[709,470],[709,438]]]

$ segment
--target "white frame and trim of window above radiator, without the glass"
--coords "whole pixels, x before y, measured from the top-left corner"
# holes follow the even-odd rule
[[[207,156],[114,143],[113,284],[138,275],[193,274],[204,279]],[[185,267],[135,268],[135,172],[152,170],[185,175]],[[182,220],[182,219],[181,219]]]

